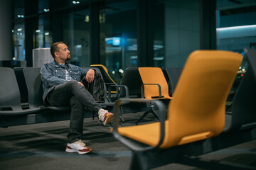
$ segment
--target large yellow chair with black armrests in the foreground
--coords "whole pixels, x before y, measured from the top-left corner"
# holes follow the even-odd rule
[[[164,105],[159,100],[154,101],[160,112],[160,122],[157,123],[118,128],[120,103],[146,101],[117,101],[114,107],[113,135],[132,150],[130,169],[159,166],[171,160],[172,156],[168,152],[170,148],[180,148],[219,135],[225,125],[225,101],[241,62],[242,55],[235,52],[192,52],[176,85],[174,98],[169,103],[167,119]],[[138,145],[138,142],[147,146]],[[186,154],[188,149],[172,151],[172,154]],[[163,158],[162,154],[166,156]]]

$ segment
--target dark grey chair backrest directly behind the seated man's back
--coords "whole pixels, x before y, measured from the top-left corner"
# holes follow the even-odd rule
[[[26,67],[23,69],[26,85],[28,88],[28,106],[29,108],[38,108],[43,106],[43,86],[41,80],[41,68]]]

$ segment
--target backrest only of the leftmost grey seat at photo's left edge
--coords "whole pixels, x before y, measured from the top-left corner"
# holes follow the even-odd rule
[[[21,96],[14,69],[0,67],[0,108],[22,110]]]

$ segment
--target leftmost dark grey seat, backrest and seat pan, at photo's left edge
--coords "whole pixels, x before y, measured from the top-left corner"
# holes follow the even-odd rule
[[[14,69],[0,67],[0,115],[27,115],[40,108],[21,108],[21,96]]]

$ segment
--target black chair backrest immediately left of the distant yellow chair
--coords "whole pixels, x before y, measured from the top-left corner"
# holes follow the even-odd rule
[[[140,98],[141,97],[141,86],[142,78],[139,75],[138,67],[129,67],[125,69],[124,76],[120,83],[121,85],[127,86],[129,90],[129,97]],[[121,89],[121,96],[125,94],[124,89]]]

